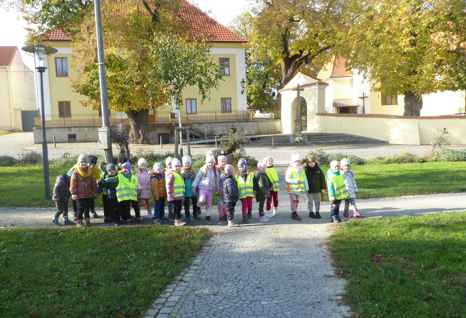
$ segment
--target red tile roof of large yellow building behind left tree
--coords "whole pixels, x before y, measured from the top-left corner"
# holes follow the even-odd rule
[[[247,42],[245,37],[236,34],[229,28],[226,28],[219,22],[213,20],[186,0],[181,1],[178,16],[181,20],[191,26],[191,30],[195,35],[205,36],[209,42]],[[65,35],[62,30],[56,30],[50,32],[48,40],[71,41],[71,37]]]

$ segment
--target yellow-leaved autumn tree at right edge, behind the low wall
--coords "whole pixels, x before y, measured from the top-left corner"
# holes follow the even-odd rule
[[[355,1],[348,67],[372,89],[404,95],[404,115],[419,116],[422,96],[465,89],[466,4],[460,0]]]

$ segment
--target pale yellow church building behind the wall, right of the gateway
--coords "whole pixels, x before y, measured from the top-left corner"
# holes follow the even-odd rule
[[[327,113],[385,114],[402,116],[404,96],[385,96],[372,91],[374,82],[345,67],[347,59],[333,58],[317,75],[329,86],[325,91]],[[465,91],[436,92],[423,96],[421,116],[451,115],[465,112]]]

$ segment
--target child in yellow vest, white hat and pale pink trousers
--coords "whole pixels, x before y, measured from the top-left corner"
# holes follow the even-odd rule
[[[299,196],[303,193],[308,194],[309,185],[306,173],[302,165],[302,157],[297,153],[291,154],[291,165],[285,173],[285,181],[287,181],[287,192],[290,196],[291,218],[293,220],[301,220],[298,215]]]

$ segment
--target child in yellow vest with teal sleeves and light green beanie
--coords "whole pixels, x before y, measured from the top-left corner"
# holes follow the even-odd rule
[[[336,160],[330,162],[330,169],[327,170],[327,187],[329,188],[329,200],[332,201],[330,208],[330,220],[339,223],[342,218],[339,215],[340,203],[348,197],[343,173],[340,173],[340,163]]]

